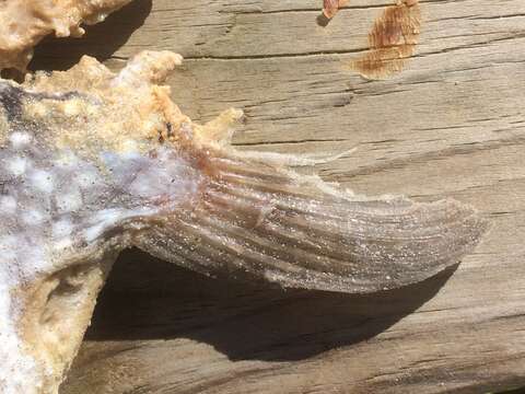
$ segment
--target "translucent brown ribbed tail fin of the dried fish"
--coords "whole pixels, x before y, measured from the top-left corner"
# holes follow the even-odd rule
[[[424,280],[470,252],[487,223],[446,199],[363,199],[275,161],[212,151],[197,206],[137,239],[160,258],[287,288],[372,292]]]

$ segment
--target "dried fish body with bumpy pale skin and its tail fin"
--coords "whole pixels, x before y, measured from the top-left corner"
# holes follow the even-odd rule
[[[142,53],[0,80],[0,392],[57,393],[106,275],[138,246],[206,275],[371,292],[456,264],[486,223],[454,200],[363,198],[237,152],[230,109],[200,126]]]

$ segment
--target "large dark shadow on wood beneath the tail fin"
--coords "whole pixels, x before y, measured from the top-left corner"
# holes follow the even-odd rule
[[[353,296],[214,280],[128,251],[86,337],[185,337],[232,360],[299,360],[380,334],[432,298],[454,270],[404,289]]]

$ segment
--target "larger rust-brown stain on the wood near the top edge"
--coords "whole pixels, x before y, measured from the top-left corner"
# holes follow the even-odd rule
[[[384,79],[401,71],[419,42],[421,11],[418,0],[388,7],[369,33],[370,51],[351,68],[368,79]]]

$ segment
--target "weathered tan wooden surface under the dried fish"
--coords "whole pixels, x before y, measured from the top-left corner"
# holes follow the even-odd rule
[[[141,49],[185,65],[174,100],[208,120],[245,109],[245,149],[334,154],[358,193],[452,196],[492,223],[456,270],[368,297],[214,281],[122,255],[63,394],[480,393],[525,385],[525,2],[428,0],[400,74],[348,70],[389,1],[147,0],[48,42],[36,68],[82,54],[118,68]]]

